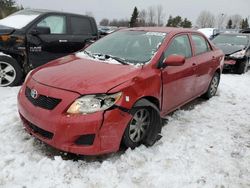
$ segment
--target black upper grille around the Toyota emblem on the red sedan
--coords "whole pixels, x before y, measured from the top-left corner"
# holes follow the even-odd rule
[[[34,105],[47,110],[53,110],[60,102],[61,99],[56,99],[53,97],[47,97],[45,95],[38,95],[37,98],[31,96],[31,89],[26,87],[25,95],[27,99]]]

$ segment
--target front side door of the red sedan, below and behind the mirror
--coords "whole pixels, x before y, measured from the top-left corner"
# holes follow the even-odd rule
[[[175,36],[167,47],[164,58],[171,54],[185,56],[182,66],[169,66],[162,70],[163,113],[172,111],[194,96],[195,75],[192,48],[188,34]]]

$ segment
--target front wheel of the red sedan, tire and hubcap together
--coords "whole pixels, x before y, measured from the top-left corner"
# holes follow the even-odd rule
[[[123,144],[131,149],[141,144],[152,146],[158,140],[161,132],[162,125],[159,113],[151,107],[134,107],[132,114],[133,117],[123,135]],[[140,117],[141,119],[139,119]]]

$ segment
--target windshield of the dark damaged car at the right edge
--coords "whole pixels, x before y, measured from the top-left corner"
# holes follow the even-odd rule
[[[213,39],[215,44],[230,44],[246,46],[248,44],[248,37],[245,35],[219,35]]]

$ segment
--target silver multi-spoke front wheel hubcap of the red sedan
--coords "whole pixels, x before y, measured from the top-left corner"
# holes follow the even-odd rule
[[[129,138],[133,142],[141,141],[150,125],[150,113],[147,109],[140,109],[135,114],[129,125]]]

